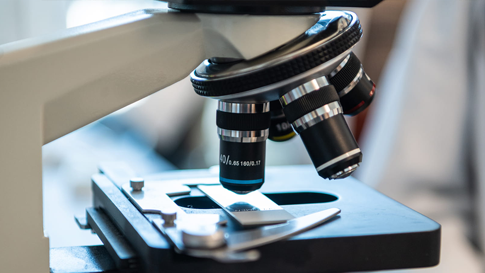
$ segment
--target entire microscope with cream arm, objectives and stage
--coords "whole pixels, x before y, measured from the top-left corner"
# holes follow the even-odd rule
[[[369,106],[375,84],[352,52],[358,17],[325,7],[379,2],[173,0],[169,9],[1,46],[2,267],[330,273],[436,265],[440,225],[350,177],[362,152],[344,114]],[[76,221],[103,245],[49,250],[41,146],[189,74],[198,95],[218,100],[219,168],[138,177],[101,164],[93,207]],[[265,168],[266,140],[296,134],[314,167]]]

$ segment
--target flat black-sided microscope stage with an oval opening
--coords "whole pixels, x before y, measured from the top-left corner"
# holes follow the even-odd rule
[[[323,179],[313,166],[268,167],[260,192],[294,217],[330,208],[341,209],[338,216],[290,240],[259,247],[261,257],[253,262],[225,264],[176,254],[151,224],[152,220],[161,216],[142,214],[120,190],[129,177],[123,177],[119,172],[113,175],[107,168],[101,171],[104,174],[93,177],[95,207],[101,209],[88,209],[88,220],[89,213],[110,219],[119,233],[125,235],[122,242],[114,245],[128,242],[137,253],[136,257],[123,260],[116,256],[113,242],[108,242],[108,252],[118,269],[130,264],[126,263],[129,259],[137,260],[137,267],[144,272],[171,273],[195,270],[199,273],[222,270],[232,273],[356,272],[429,267],[439,262],[439,224],[353,177],[331,181]],[[217,177],[217,173],[208,170],[172,171],[144,178],[148,185],[155,180],[196,181],[197,177],[207,181],[208,177]],[[194,187],[190,195],[171,198],[187,214],[219,214],[228,220],[228,230],[243,229]],[[96,211],[99,212],[97,216]],[[98,235],[103,232],[102,226],[93,229]],[[106,240],[102,241],[107,244]]]

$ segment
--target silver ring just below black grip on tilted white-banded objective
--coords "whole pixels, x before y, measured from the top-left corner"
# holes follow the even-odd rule
[[[340,102],[334,101],[329,104],[325,104],[322,107],[317,108],[314,111],[309,112],[306,115],[298,118],[291,124],[291,126],[293,126],[297,133],[300,133],[303,130],[321,122],[322,120],[342,113],[343,111]]]

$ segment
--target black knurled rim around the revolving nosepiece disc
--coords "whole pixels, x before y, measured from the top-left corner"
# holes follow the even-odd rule
[[[230,79],[194,80],[191,78],[190,80],[195,93],[200,96],[225,96],[241,93],[304,73],[339,56],[354,46],[361,37],[362,29],[360,22],[357,21],[348,32],[343,32],[328,43],[325,43],[324,46],[315,48],[306,54],[295,56],[295,58],[282,64]],[[196,76],[200,77],[197,74]]]

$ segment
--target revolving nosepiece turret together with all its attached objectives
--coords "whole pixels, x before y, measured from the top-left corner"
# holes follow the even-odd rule
[[[321,177],[339,179],[356,170],[362,152],[344,114],[362,112],[375,94],[375,84],[352,52],[361,37],[355,13],[327,11],[305,34],[274,51],[251,60],[206,60],[192,72],[195,92],[220,100],[217,126],[224,187],[235,193],[259,189],[264,143],[270,135],[275,141],[290,139],[294,133],[289,125]]]

